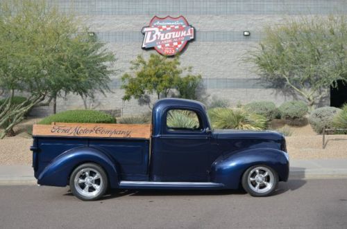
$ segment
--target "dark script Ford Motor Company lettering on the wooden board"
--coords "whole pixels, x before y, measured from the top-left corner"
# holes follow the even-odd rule
[[[65,126],[53,126],[51,129],[51,133],[56,134],[67,134],[71,136],[79,136],[81,134],[98,134],[105,136],[121,136],[123,138],[130,138],[131,131],[119,130],[119,129],[105,129],[103,127],[95,126],[94,128],[89,127],[65,127]]]

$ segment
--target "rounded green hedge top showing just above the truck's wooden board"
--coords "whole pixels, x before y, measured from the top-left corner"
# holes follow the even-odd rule
[[[39,124],[51,124],[52,122],[116,123],[116,118],[101,111],[72,110],[48,116],[42,119]]]

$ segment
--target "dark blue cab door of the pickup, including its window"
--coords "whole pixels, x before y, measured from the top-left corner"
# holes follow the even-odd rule
[[[170,107],[162,125],[162,133],[153,136],[152,181],[208,181],[211,134],[204,113]]]

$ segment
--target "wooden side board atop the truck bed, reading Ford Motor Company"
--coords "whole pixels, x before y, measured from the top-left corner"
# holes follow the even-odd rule
[[[53,122],[51,125],[33,125],[33,136],[149,139],[151,125]]]

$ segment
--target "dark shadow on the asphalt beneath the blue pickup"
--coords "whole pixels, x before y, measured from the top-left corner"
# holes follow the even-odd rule
[[[289,180],[287,183],[280,182],[276,192],[272,196],[276,196],[288,191],[294,191],[305,185],[305,180]],[[115,199],[122,196],[221,196],[221,195],[237,195],[243,196],[247,194],[244,190],[110,190],[101,200]]]

